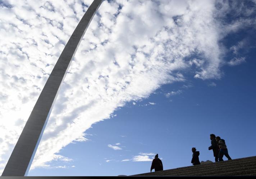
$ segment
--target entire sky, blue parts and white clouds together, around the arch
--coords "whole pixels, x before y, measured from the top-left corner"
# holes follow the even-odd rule
[[[0,173],[91,0],[0,1]],[[61,6],[60,6],[61,4]],[[60,8],[61,7],[61,8]],[[255,155],[255,1],[104,1],[28,176],[117,176]],[[224,157],[225,159],[225,157]]]

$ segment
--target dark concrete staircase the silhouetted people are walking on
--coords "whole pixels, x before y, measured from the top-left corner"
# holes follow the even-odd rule
[[[256,156],[132,176],[256,176]]]

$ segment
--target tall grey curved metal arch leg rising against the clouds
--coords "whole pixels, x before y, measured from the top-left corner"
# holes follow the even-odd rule
[[[94,0],[77,25],[20,134],[17,144],[5,166],[2,176],[26,176],[36,154],[47,120],[58,96],[70,63],[93,16],[103,0]]]

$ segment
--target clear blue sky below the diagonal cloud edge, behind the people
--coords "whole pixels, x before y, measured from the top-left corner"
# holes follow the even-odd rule
[[[69,144],[60,151],[61,155],[74,159],[71,164],[64,163],[67,168],[34,169],[29,175],[146,173],[150,171],[151,161],[121,162],[142,152],[158,153],[163,158],[164,169],[190,166],[192,147],[200,151],[200,161],[214,161],[212,151],[208,150],[212,133],[225,139],[232,159],[255,156],[256,53],[250,50],[247,55],[246,63],[225,67],[225,75],[220,80],[192,78],[190,88],[183,87],[186,83],[168,84],[136,105],[127,103],[115,111],[115,117],[93,124],[86,131],[92,135],[87,136],[90,141]],[[209,86],[212,82],[216,86]],[[183,92],[166,98],[164,94],[170,89]],[[156,104],[149,105],[149,102]],[[122,150],[108,147],[119,142]],[[227,159],[224,157],[224,160]]]

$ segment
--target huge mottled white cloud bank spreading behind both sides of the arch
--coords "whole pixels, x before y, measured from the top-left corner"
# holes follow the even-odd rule
[[[65,43],[87,10],[81,2],[6,0],[1,4],[0,173]],[[91,2],[83,1],[87,6]],[[71,142],[86,141],[84,131],[114,117],[113,112],[126,102],[146,98],[163,84],[186,80],[187,70],[195,78],[220,78],[224,53],[220,40],[255,24],[255,19],[220,24],[218,18],[236,8],[218,2],[221,9],[211,0],[104,1],[60,88],[31,169],[49,166]],[[191,55],[200,58],[191,61]],[[229,63],[239,61],[243,60]]]

